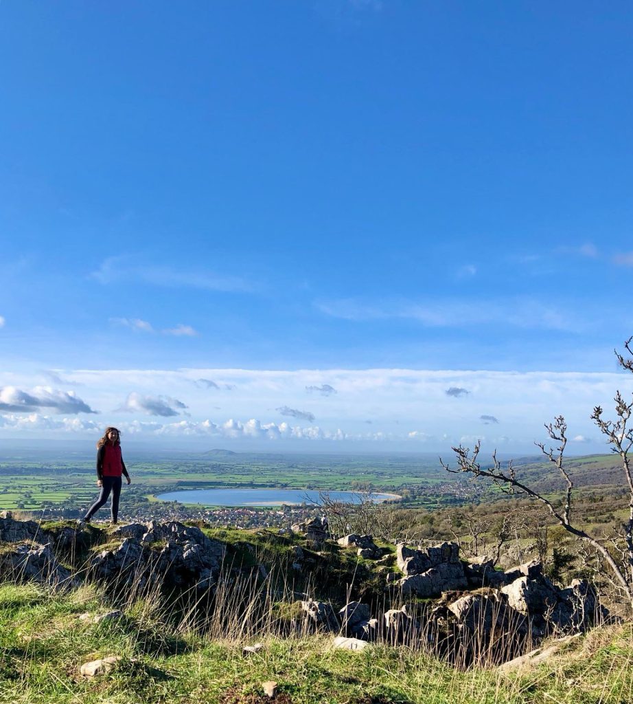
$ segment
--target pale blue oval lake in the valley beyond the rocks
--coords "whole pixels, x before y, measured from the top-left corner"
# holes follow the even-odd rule
[[[359,503],[353,491],[330,491],[332,501]],[[281,506],[282,503],[319,503],[319,492],[308,489],[189,489],[158,494],[161,501],[200,503],[205,506]],[[399,498],[396,494],[372,494],[372,501]]]

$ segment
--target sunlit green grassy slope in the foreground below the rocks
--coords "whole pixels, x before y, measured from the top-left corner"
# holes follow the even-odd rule
[[[281,700],[329,703],[596,704],[633,700],[630,627],[594,631],[573,649],[521,677],[494,670],[457,672],[405,648],[332,650],[323,636],[270,640],[244,657],[243,643],[170,632],[148,604],[110,624],[79,620],[107,610],[103,596],[79,589],[46,596],[33,586],[0,587],[0,701],[109,704],[263,701],[260,683],[279,682]],[[121,655],[94,680],[79,666]]]

